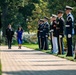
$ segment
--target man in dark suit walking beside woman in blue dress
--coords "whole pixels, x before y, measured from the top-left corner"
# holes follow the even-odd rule
[[[11,25],[8,25],[8,28],[6,29],[6,38],[8,43],[8,49],[11,49],[11,43],[12,43],[12,37],[14,35],[14,31],[11,27]]]

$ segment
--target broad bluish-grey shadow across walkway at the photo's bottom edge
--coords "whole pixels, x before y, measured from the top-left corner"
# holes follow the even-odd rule
[[[21,70],[2,73],[7,75],[76,75],[76,70]]]

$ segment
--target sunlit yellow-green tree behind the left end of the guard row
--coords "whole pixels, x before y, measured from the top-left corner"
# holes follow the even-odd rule
[[[29,17],[30,22],[28,22],[29,31],[37,32],[38,20],[43,18],[44,16],[49,17],[49,10],[47,9],[48,2],[44,0],[40,0],[39,3],[35,3],[35,9],[32,11],[32,16]]]

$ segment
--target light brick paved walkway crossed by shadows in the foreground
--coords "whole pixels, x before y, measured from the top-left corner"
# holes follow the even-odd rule
[[[2,75],[76,75],[76,62],[25,47],[0,49]]]

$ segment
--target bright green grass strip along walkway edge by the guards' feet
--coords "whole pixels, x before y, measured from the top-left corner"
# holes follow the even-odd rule
[[[25,46],[27,48],[39,50],[37,44],[28,44],[27,43],[27,44],[24,44],[23,46]],[[42,50],[42,51],[45,52],[45,53],[48,53],[48,54],[52,54],[50,49],[49,50]],[[76,60],[74,59],[74,57],[66,57],[66,53],[64,55],[57,55],[57,54],[52,54],[52,55],[55,55],[55,56],[58,56],[58,57],[65,58],[65,59],[68,59],[68,60],[76,62]]]

